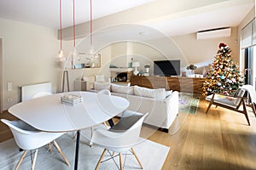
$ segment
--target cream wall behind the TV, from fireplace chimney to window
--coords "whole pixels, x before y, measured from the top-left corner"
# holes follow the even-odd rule
[[[164,60],[164,59],[181,59],[181,69],[186,71],[185,67],[189,64],[195,64],[198,67],[212,64],[214,56],[218,51],[218,44],[220,42],[225,42],[228,44],[232,50],[233,59],[239,62],[239,42],[237,41],[237,28],[232,28],[231,37],[225,38],[214,38],[207,40],[197,40],[196,34],[183,35],[179,37],[172,37],[174,42],[172,45],[167,45],[169,47],[168,51],[165,48],[155,48],[151,47],[143,42],[130,42],[131,52],[127,54],[127,42],[117,42],[111,45],[112,47],[112,64],[122,67],[127,67],[127,61],[133,58],[140,62],[141,66],[139,70],[143,69],[143,65],[149,63],[153,66],[154,60]],[[158,41],[158,44],[162,44]],[[162,47],[163,47],[162,46]],[[178,53],[180,51],[180,53]],[[165,52],[164,54],[162,52]],[[150,69],[150,73],[153,73],[153,67]]]

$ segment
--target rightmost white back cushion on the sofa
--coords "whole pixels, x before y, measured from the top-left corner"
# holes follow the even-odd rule
[[[134,94],[154,99],[166,99],[166,88],[151,89],[134,86]]]

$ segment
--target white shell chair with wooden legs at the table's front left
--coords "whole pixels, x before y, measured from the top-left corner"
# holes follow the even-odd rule
[[[16,144],[20,147],[20,149],[24,150],[22,156],[20,157],[20,161],[18,161],[15,170],[20,167],[20,163],[23,161],[26,156],[27,150],[35,150],[35,154],[32,160],[32,170],[35,167],[35,163],[38,156],[38,148],[53,142],[56,149],[61,153],[61,156],[68,167],[70,167],[69,162],[67,161],[67,157],[61,151],[61,147],[56,143],[55,139],[61,137],[64,133],[47,133],[43,131],[39,131],[38,129],[28,125],[26,122],[18,121],[9,121],[6,119],[1,119],[3,123],[9,126],[11,132],[14,135]]]

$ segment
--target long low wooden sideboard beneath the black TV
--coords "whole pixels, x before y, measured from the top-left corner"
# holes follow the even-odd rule
[[[193,94],[202,93],[202,85],[205,78],[197,77],[131,77],[131,86],[137,85],[145,88],[166,88],[178,92]]]

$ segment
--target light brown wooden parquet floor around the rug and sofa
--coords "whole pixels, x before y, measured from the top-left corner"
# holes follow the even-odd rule
[[[212,106],[206,114],[207,105],[201,99],[196,114],[180,113],[169,133],[143,126],[144,138],[170,147],[162,169],[256,169],[256,117],[251,109],[248,126],[241,113],[224,108]],[[15,119],[7,113],[0,117]],[[0,141],[11,137],[0,122]]]

